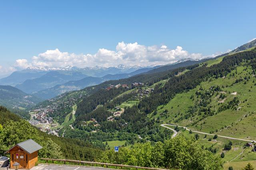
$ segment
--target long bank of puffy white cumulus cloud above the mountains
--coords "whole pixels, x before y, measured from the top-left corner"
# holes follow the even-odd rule
[[[116,51],[99,49],[96,54],[75,54],[61,52],[59,49],[47,50],[37,56],[32,57],[31,63],[26,59],[17,60],[15,66],[26,68],[28,66],[58,66],[64,67],[73,65],[85,66],[116,66],[125,65],[150,65],[174,63],[184,58],[200,59],[200,53],[188,53],[177,46],[176,49],[169,49],[166,45],[145,46],[135,43],[124,43],[116,45]]]

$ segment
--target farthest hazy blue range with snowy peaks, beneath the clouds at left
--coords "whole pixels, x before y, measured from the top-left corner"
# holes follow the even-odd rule
[[[116,67],[85,67],[85,68],[78,68],[75,66],[66,66],[66,67],[28,67],[25,70],[22,71],[16,71],[13,72],[10,76],[7,76],[6,78],[0,79],[0,85],[10,85],[10,86],[16,86],[17,88],[20,88],[21,90],[24,90],[24,92],[31,93],[36,92],[33,88],[29,91],[26,91],[26,88],[28,88],[29,83],[32,83],[34,86],[41,86],[40,80],[42,78],[42,81],[44,81],[45,77],[49,77],[51,74],[64,74],[64,75],[70,75],[73,73],[84,75],[80,79],[87,77],[87,76],[93,76],[93,77],[102,77],[107,74],[122,74],[122,73],[130,73],[135,70],[141,69],[141,68],[151,68],[153,66],[124,66],[122,64],[116,66]],[[51,73],[49,73],[51,72]],[[55,73],[53,73],[55,72]],[[45,74],[49,73],[48,75],[44,76]],[[63,76],[63,75],[62,75]],[[34,80],[38,78],[37,80]],[[56,75],[53,77],[49,77],[50,79],[56,78]],[[29,80],[28,82],[25,82],[26,80]],[[67,80],[55,80],[50,84],[50,87],[55,86],[56,84],[62,84],[65,82],[68,82],[70,80],[78,80],[76,78],[68,78]],[[39,84],[38,84],[39,82]],[[24,83],[24,84],[23,84]],[[49,83],[49,82],[48,82]],[[26,87],[24,87],[26,86]],[[45,86],[42,88],[38,88],[36,90],[43,90],[46,88],[50,88],[49,86]]]

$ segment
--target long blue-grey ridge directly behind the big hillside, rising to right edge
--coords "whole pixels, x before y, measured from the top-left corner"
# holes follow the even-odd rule
[[[246,44],[234,49],[233,51],[231,51],[229,53],[225,53],[225,54],[217,56],[215,58],[222,57],[222,56],[229,55],[229,54],[236,53],[236,52],[240,52],[240,51],[244,51],[244,50],[248,50],[255,46],[256,46],[256,40],[253,40],[249,43],[246,43]],[[206,57],[201,60],[198,60],[198,59],[194,60],[192,58],[186,58],[186,59],[180,59],[179,61],[172,63],[172,64],[166,64],[164,66],[154,66],[152,68],[141,68],[134,72],[131,72],[130,74],[114,74],[114,75],[108,74],[108,75],[105,75],[105,76],[99,77],[99,78],[86,77],[81,80],[70,81],[70,82],[66,82],[65,84],[56,85],[49,89],[41,90],[39,92],[34,93],[34,95],[38,96],[40,98],[45,98],[45,99],[54,98],[55,96],[58,96],[64,92],[68,92],[68,91],[72,91],[72,90],[80,90],[80,89],[86,88],[88,86],[100,84],[107,80],[118,80],[118,79],[122,79],[122,78],[128,78],[130,76],[134,76],[137,74],[150,74],[153,72],[162,72],[162,71],[166,71],[166,70],[170,70],[170,69],[174,69],[174,68],[178,68],[178,67],[182,67],[182,66],[188,66],[188,65],[192,65],[192,64],[202,63],[209,59],[214,59],[214,58]],[[126,66],[119,65],[118,67],[125,68]],[[96,68],[94,68],[94,69],[96,69]]]

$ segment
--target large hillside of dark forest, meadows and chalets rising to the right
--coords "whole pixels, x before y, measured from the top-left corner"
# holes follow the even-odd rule
[[[236,161],[254,160],[254,152],[244,148],[245,143],[239,140],[256,139],[253,134],[256,49],[194,65],[161,69],[68,92],[41,103],[37,108],[49,111],[48,115],[58,121],[52,129],[56,129],[59,136],[67,140],[76,138],[89,147],[111,150],[108,143],[146,147],[146,142],[150,141],[154,150],[155,143],[166,145],[166,140],[173,135],[172,131],[160,125],[172,123],[216,135],[211,138],[188,133],[178,126],[174,128],[178,136],[192,138],[197,147],[208,151],[209,156],[214,154],[220,158],[222,155],[222,161],[234,158]],[[50,110],[52,108],[54,111]],[[230,143],[230,138],[218,135],[238,140]],[[60,142],[58,137],[55,138],[51,136],[53,141]],[[178,139],[184,140],[182,137]],[[152,150],[149,152],[154,152]],[[242,156],[238,159],[236,156],[240,152]],[[136,157],[136,152],[132,154],[129,149],[125,153]],[[113,162],[110,151],[103,154],[102,161]],[[184,168],[184,165],[160,164],[153,158],[145,165],[136,161],[126,160],[124,164]]]

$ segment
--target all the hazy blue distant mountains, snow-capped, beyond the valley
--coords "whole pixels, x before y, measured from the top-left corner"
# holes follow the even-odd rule
[[[250,50],[255,46],[256,40],[246,43],[224,55]],[[137,74],[151,74],[153,72],[166,71],[181,66],[202,63],[205,60],[187,58],[164,66],[146,67],[140,65],[124,66],[122,64],[115,67],[94,66],[85,68],[78,68],[76,66],[28,67],[25,70],[13,72],[10,76],[0,79],[0,84],[15,86],[22,90],[24,95],[26,94],[25,96],[32,94],[33,96],[37,96],[37,98],[50,99],[65,92],[80,90],[107,80],[119,80]]]

